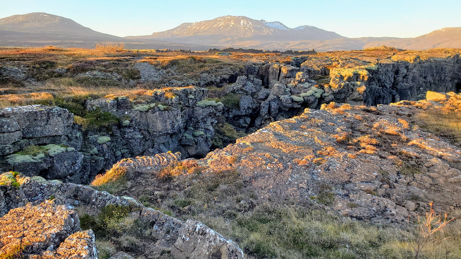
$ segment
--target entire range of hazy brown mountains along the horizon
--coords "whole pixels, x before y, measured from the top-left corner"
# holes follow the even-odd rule
[[[152,35],[122,38],[43,12],[0,18],[0,46],[54,45],[92,48],[100,42],[124,42],[126,47],[133,49],[206,50],[242,47],[281,51],[337,51],[385,45],[424,50],[439,47],[461,48],[461,27],[444,28],[416,38],[347,38],[309,25],[289,28],[278,21],[267,22],[228,15],[201,22],[182,23],[173,29]]]

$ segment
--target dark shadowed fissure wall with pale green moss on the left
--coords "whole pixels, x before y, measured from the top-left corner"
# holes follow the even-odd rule
[[[3,109],[2,169],[84,183],[126,157],[169,150],[180,151],[183,157],[206,155],[223,104],[207,100],[208,90],[204,88],[178,87],[168,91],[89,101],[90,111],[108,112],[120,118],[120,122],[106,129],[75,125],[75,117],[58,107]]]

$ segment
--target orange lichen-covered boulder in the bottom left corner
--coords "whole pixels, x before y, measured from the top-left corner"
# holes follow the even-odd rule
[[[10,210],[0,218],[0,258],[96,259],[93,231],[80,231],[68,205],[45,201]]]

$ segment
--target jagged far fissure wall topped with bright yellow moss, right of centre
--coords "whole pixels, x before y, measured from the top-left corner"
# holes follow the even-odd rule
[[[389,55],[319,53],[284,63],[246,65],[245,75],[226,86],[227,92],[241,97],[239,109],[226,109],[225,116],[240,130],[254,132],[271,121],[332,101],[390,104],[423,99],[427,91],[461,91],[459,51],[396,50]]]

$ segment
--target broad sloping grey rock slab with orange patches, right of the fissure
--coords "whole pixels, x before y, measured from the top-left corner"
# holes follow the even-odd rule
[[[449,96],[445,106],[324,104],[272,122],[198,163],[205,173],[236,170],[261,197],[282,191],[290,202],[323,203],[366,221],[402,223],[428,201],[449,212],[461,200],[459,144],[418,126],[422,107],[461,107],[461,94]],[[322,184],[331,186],[330,201],[318,197]]]

